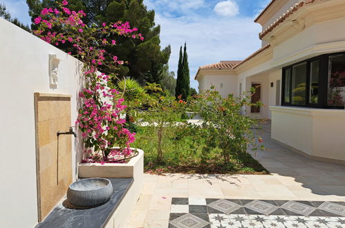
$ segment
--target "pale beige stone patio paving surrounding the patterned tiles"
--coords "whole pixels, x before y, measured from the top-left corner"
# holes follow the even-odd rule
[[[279,203],[286,203],[288,200],[292,200],[289,204],[297,201],[298,205],[298,201],[301,202],[301,200],[303,200],[301,203],[303,203],[304,206],[314,205],[313,210],[316,210],[317,207],[325,201],[326,204],[327,202],[345,202],[344,166],[309,160],[271,140],[270,131],[264,130],[261,135],[268,151],[258,152],[255,158],[257,158],[272,175],[145,174],[142,194],[131,215],[128,227],[176,227],[171,224],[169,225],[169,220],[175,220],[181,216],[186,217],[186,215],[188,217],[188,215],[192,215],[192,212],[190,211],[190,203],[189,209],[176,206],[178,204],[171,204],[172,201],[176,200],[173,198],[184,198],[185,200],[192,199],[198,202],[207,200],[211,200],[208,202],[213,202],[218,199],[230,199],[232,202],[236,202],[234,200],[239,199],[238,205],[243,208],[245,207],[243,200],[245,200],[246,203],[253,202],[253,200],[263,200],[262,202],[270,203],[270,207],[272,207],[272,205],[281,207]],[[345,204],[343,202],[340,202],[340,205],[335,205],[335,207],[339,206],[338,211],[341,212],[337,214],[331,213],[333,216],[345,216]],[[176,207],[178,209],[176,209]],[[208,203],[207,208],[210,208]],[[182,210],[183,212],[178,210]],[[250,216],[252,215],[247,212],[248,209],[245,212],[245,219],[250,220]],[[234,220],[232,217],[237,215],[220,213],[219,211],[212,213],[212,211],[207,210],[207,213],[201,215],[201,217],[205,217],[205,215],[208,214],[208,220],[207,218],[203,220],[210,222],[210,220],[213,219],[211,215],[215,216],[214,218],[217,216],[225,216],[225,220]],[[298,215],[304,216],[302,213],[289,215],[287,212],[284,212],[282,216],[286,216],[286,219],[289,220],[292,218],[295,219],[295,217],[299,219],[297,217],[301,216]],[[312,214],[310,214],[310,217],[302,218],[307,218],[307,222],[312,223],[313,221],[309,220],[338,219],[335,217],[328,218],[329,214],[324,211],[321,212],[319,215],[321,217],[319,218],[314,218],[311,215]],[[198,214],[196,214],[196,216],[198,217]],[[263,213],[263,215],[259,216],[268,216],[268,214]],[[271,214],[270,216],[278,215]],[[290,218],[289,216],[292,217]],[[194,219],[191,220],[191,218],[187,217],[187,223],[192,222]],[[267,217],[265,219],[270,220],[271,218]],[[218,224],[214,221],[205,227],[222,226],[223,224]],[[183,227],[183,225],[180,227]],[[226,227],[241,226],[227,225]],[[254,227],[263,227],[262,222],[261,226],[255,225]],[[278,225],[277,227],[284,227],[284,225]],[[296,226],[291,223],[291,227]],[[329,225],[323,223],[316,225],[314,221],[313,226],[299,224],[297,227],[345,227],[345,223],[330,222]]]

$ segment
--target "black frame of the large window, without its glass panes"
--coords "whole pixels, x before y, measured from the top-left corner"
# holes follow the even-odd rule
[[[319,55],[310,59],[304,59],[303,61],[298,61],[295,64],[285,66],[282,68],[281,73],[281,106],[295,106],[295,107],[309,107],[309,108],[335,108],[344,109],[345,106],[328,106],[328,59],[331,55],[345,55],[342,53],[329,53],[325,55]],[[310,103],[310,63],[314,61],[319,61],[319,75],[318,75],[318,88],[317,88],[317,104]],[[306,104],[292,104],[292,67],[306,62]],[[286,82],[286,70],[291,70],[291,80],[290,80],[290,102],[285,102],[285,82]]]

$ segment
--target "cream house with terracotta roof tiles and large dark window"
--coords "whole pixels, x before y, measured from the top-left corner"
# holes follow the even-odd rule
[[[256,88],[245,113],[272,120],[272,138],[316,160],[345,164],[345,1],[272,0],[255,19],[262,47],[243,61],[201,66],[199,91]],[[230,64],[232,63],[232,64]]]

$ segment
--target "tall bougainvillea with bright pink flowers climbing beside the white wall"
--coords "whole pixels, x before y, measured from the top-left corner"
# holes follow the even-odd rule
[[[124,99],[111,84],[115,75],[101,74],[97,68],[124,64],[117,56],[106,53],[106,48],[116,45],[114,37],[144,38],[140,33],[136,34],[137,29],[130,28],[128,22],[87,26],[82,21],[86,14],[82,10],[72,11],[67,5],[64,0],[58,3],[58,8],[44,8],[34,20],[38,26],[34,33],[55,46],[71,43],[73,55],[84,61],[84,89],[79,93],[83,104],[76,123],[82,132],[85,151],[91,153],[91,160],[87,162],[113,162],[126,158],[132,153],[129,147],[135,134],[124,128],[126,120],[120,117],[126,108],[122,104]],[[112,149],[114,146],[120,146],[120,149]]]

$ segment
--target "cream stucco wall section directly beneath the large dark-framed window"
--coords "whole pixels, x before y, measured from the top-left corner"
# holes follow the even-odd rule
[[[345,111],[272,106],[272,138],[317,158],[345,161]]]

